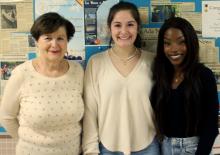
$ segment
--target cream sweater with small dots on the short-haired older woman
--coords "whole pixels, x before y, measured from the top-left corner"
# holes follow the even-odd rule
[[[1,124],[18,138],[16,155],[79,155],[84,71],[68,61],[69,70],[50,78],[32,61],[17,66],[1,102]]]

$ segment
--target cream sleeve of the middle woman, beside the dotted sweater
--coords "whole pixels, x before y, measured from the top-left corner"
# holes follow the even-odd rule
[[[85,114],[83,119],[83,153],[99,153],[99,134],[98,134],[98,105],[94,84],[94,67],[91,60],[86,68],[84,78],[84,101]]]

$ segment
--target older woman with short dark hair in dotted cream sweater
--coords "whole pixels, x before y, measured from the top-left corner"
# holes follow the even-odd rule
[[[39,57],[14,69],[0,109],[1,124],[18,138],[16,155],[80,154],[83,69],[63,59],[74,32],[53,12],[31,28]]]

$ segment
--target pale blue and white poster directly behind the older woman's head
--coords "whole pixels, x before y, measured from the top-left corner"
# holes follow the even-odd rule
[[[68,44],[68,55],[85,59],[84,8],[82,0],[35,0],[35,19],[46,12],[57,12],[70,20],[76,32]]]

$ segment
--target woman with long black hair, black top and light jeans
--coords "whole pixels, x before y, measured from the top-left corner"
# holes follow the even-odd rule
[[[151,103],[163,155],[208,155],[218,134],[212,71],[199,62],[193,26],[173,17],[159,31]]]

